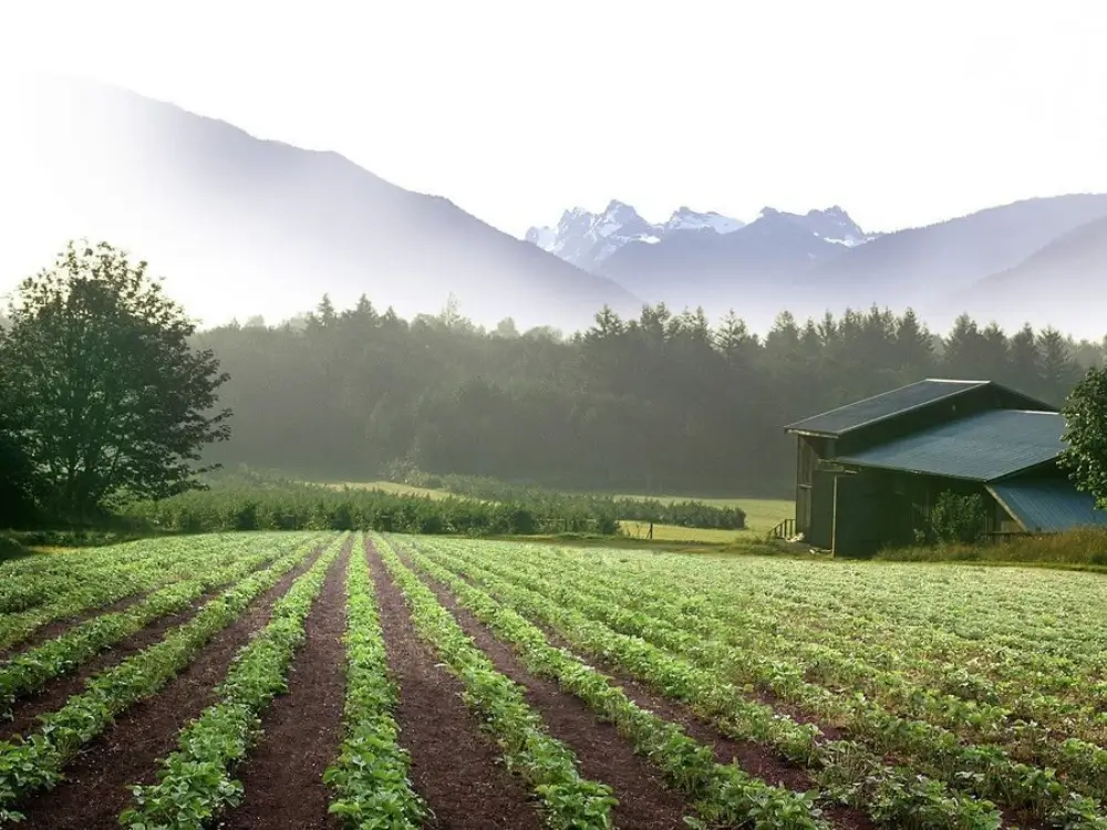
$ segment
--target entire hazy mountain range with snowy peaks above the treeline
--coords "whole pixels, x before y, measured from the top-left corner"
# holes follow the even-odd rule
[[[765,330],[876,303],[944,329],[968,311],[1005,328],[1107,331],[1107,195],[1032,198],[869,232],[839,206],[748,221],[680,207],[660,222],[611,201],[516,239],[446,198],[329,152],[91,82],[0,79],[0,294],[70,238],[106,239],[166,274],[204,324],[270,322],[366,294],[402,314],[587,326],[602,305],[734,309]]]

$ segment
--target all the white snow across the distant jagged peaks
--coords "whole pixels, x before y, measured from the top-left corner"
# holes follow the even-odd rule
[[[772,221],[766,222],[766,219]],[[613,253],[631,242],[655,245],[677,236],[683,238],[684,235],[705,234],[704,237],[691,238],[702,238],[703,245],[711,246],[720,236],[755,226],[758,234],[764,234],[777,220],[804,228],[826,242],[846,248],[863,245],[875,238],[861,230],[838,206],[826,210],[810,210],[805,215],[765,208],[749,225],[714,210],[699,212],[682,206],[674,210],[666,221],[652,225],[630,205],[612,200],[601,214],[592,214],[579,207],[566,210],[556,228],[530,228],[525,239],[545,251],[572,262],[578,268],[599,273]],[[696,242],[690,243],[696,245]]]

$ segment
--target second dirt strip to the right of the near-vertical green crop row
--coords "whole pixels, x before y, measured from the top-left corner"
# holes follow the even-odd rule
[[[410,567],[410,562],[406,562]],[[422,574],[421,574],[422,577]],[[526,689],[527,703],[545,720],[550,735],[577,755],[586,778],[602,781],[614,790],[619,805],[612,810],[617,827],[635,830],[675,830],[687,827],[693,815],[683,796],[669,788],[660,771],[637,755],[614,725],[599,720],[588,705],[567,694],[554,681],[530,674],[510,646],[498,640],[470,611],[434,580],[422,577],[496,670]]]

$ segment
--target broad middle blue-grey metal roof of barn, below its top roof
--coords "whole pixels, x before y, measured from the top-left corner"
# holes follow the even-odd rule
[[[995,409],[880,444],[839,464],[994,481],[1054,460],[1065,449],[1056,412]]]

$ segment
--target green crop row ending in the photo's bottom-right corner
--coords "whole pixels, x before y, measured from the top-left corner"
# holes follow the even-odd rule
[[[1090,762],[1078,767],[1079,778],[1062,781],[1054,769],[1014,760],[1001,747],[965,745],[949,729],[923,720],[907,720],[863,695],[840,695],[808,683],[801,665],[795,661],[766,657],[757,650],[735,647],[703,632],[690,631],[687,616],[679,604],[671,598],[650,601],[642,580],[635,580],[633,588],[621,583],[611,588],[602,574],[586,569],[576,571],[568,562],[558,562],[556,581],[536,572],[529,577],[529,584],[555,600],[571,598],[584,613],[615,631],[645,636],[700,666],[752,683],[804,710],[834,720],[878,751],[910,757],[922,771],[943,778],[951,787],[1032,810],[1035,818],[1054,827],[1107,827],[1099,805],[1080,792],[1082,786],[1090,789],[1101,781],[1107,770],[1098,747],[1092,747],[1089,758],[1085,756]],[[518,570],[511,575],[526,579]],[[1057,756],[1064,755],[1075,766],[1084,759],[1074,749],[1078,743],[1069,741]]]

